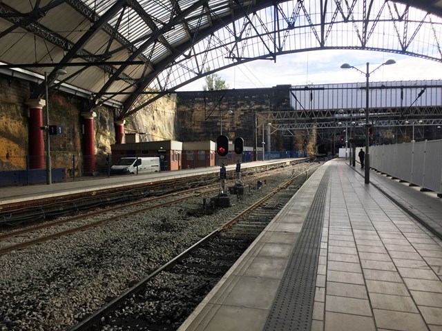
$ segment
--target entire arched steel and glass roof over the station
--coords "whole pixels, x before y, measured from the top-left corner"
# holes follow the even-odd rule
[[[419,8],[416,10],[415,8]],[[0,70],[48,72],[126,117],[211,71],[330,48],[442,61],[440,0],[3,0]],[[41,82],[41,79],[39,80]],[[44,94],[43,83],[33,97]],[[140,96],[144,96],[140,98]]]

